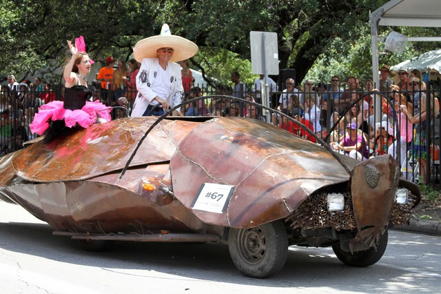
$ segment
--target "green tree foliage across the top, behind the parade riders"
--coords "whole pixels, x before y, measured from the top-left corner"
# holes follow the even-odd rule
[[[252,84],[249,32],[278,35],[280,69],[295,68],[297,81],[331,75],[370,77],[369,11],[387,0],[0,0],[0,82],[35,70],[54,72],[65,63],[66,40],[85,37],[90,57],[102,66],[105,57],[130,59],[142,38],[158,35],[169,23],[174,35],[200,48],[192,66],[223,84],[237,70]],[[432,28],[402,28],[405,35],[433,35]],[[384,34],[387,35],[386,30]],[[402,55],[382,55],[398,63],[431,48],[409,44]],[[50,75],[48,75],[50,76]],[[61,81],[60,75],[52,79]]]

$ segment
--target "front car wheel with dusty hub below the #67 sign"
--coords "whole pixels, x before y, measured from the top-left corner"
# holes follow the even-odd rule
[[[281,221],[255,228],[230,228],[228,248],[234,265],[248,277],[269,277],[280,271],[288,255],[288,237]]]

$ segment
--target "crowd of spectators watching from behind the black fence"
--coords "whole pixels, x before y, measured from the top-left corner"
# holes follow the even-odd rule
[[[106,65],[96,77],[94,99],[100,99],[108,106],[129,109],[133,106],[139,63],[131,59],[127,65],[122,60],[107,57]],[[418,162],[422,168],[426,166],[429,148],[424,134],[428,126],[433,126],[426,119],[439,119],[439,106],[435,98],[438,95],[431,95],[431,113],[427,115],[427,84],[422,81],[418,70],[408,72],[400,68],[397,72],[391,72],[389,66],[383,65],[378,89],[372,79],[363,82],[356,77],[348,77],[345,87],[342,87],[337,75],[331,78],[329,84],[315,84],[312,80],[296,84],[294,77],[289,77],[278,85],[268,78],[270,101],[277,101],[270,105],[271,108],[297,119],[300,124],[309,127],[309,132],[275,112],[266,112],[253,104],[223,97],[230,95],[261,104],[265,96],[261,91],[265,84],[264,75],[259,75],[254,85],[247,87],[240,80],[240,73],[232,72],[232,84],[218,85],[209,91],[194,84],[189,61],[181,61],[181,68],[183,101],[195,99],[194,103],[187,104],[181,110],[181,115],[269,119],[271,124],[311,141],[316,141],[316,136],[325,139],[336,152],[360,160],[389,153],[399,158],[402,166],[406,166],[409,159]],[[196,99],[206,95],[214,96]],[[32,83],[18,83],[13,75],[8,77],[8,85],[1,88],[0,101],[3,153],[33,138],[29,124],[34,113],[38,112],[39,106],[54,99],[63,99],[62,88],[54,91],[50,84],[43,83],[39,77]],[[375,115],[376,109],[380,109],[379,116]],[[113,116],[121,118],[127,114],[130,112],[115,111]],[[421,175],[424,177],[424,172]]]

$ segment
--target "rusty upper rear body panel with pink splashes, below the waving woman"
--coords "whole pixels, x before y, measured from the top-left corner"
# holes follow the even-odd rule
[[[124,167],[153,117],[94,124],[74,135],[42,141],[12,159],[15,173],[33,182],[90,179]],[[197,126],[189,121],[161,121],[143,141],[130,166],[168,161],[185,135]]]

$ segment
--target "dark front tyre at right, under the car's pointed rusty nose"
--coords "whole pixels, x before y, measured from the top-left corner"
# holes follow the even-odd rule
[[[360,251],[351,254],[350,252],[342,251],[340,248],[340,244],[332,246],[332,250],[336,253],[340,262],[346,264],[347,266],[371,266],[380,260],[383,256],[384,251],[386,251],[387,247],[387,239],[388,233],[387,230],[384,231],[384,234],[378,240],[376,247],[377,248],[369,248],[367,251]]]

